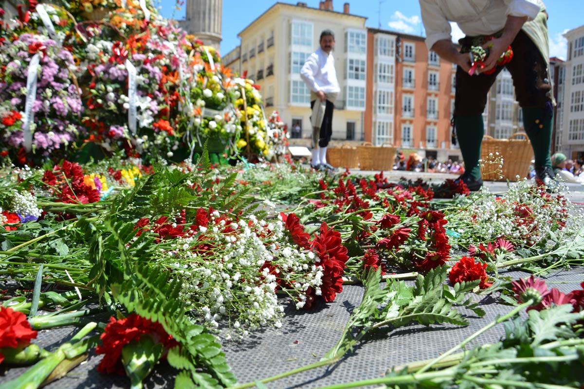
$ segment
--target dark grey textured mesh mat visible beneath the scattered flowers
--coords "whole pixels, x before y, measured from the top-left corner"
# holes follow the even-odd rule
[[[521,272],[507,272],[505,275],[513,279],[526,276]],[[550,288],[569,292],[578,289],[580,282],[584,281],[584,268],[557,271],[545,279]],[[345,286],[334,303],[319,304],[313,311],[296,311],[291,306],[286,311],[283,325],[279,329],[267,328],[255,332],[241,342],[225,341],[227,359],[239,382],[262,379],[318,362],[340,338],[350,311],[359,305],[362,295],[361,286]],[[397,330],[379,331],[372,337],[364,339],[338,364],[274,381],[267,384],[267,387],[315,388],[372,379],[383,376],[388,368],[395,365],[436,358],[498,315],[512,309],[498,304],[493,297],[475,297],[481,300],[486,314],[485,317],[478,318],[471,311],[466,311],[470,321],[467,327],[411,325]],[[44,348],[53,349],[71,338],[74,333],[75,328],[72,327],[40,331],[36,342]],[[496,342],[502,334],[503,327],[499,325],[477,338],[474,344]],[[124,376],[107,376],[97,372],[96,366],[101,358],[102,356],[92,353],[81,366],[47,387],[55,389],[129,387],[129,380]],[[8,370],[4,376],[0,376],[0,383],[15,378],[24,371],[25,369]],[[147,379],[145,387],[173,387],[174,375],[175,372],[168,364],[161,363],[155,373]]]

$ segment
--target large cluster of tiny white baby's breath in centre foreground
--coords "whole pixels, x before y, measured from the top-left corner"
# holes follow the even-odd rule
[[[223,232],[226,227],[232,231]],[[201,252],[201,244],[212,248]],[[162,255],[183,282],[182,298],[196,317],[213,326],[228,319],[232,328],[279,327],[284,307],[278,289],[298,309],[308,288],[320,294],[322,268],[314,265],[313,253],[288,242],[281,220],[267,223],[251,216],[235,223],[214,211],[208,227],[176,239]]]

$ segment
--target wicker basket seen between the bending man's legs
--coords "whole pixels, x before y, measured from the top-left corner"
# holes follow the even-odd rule
[[[516,139],[522,137],[523,139]],[[498,166],[483,163],[482,179],[486,181],[515,181],[516,176],[525,177],[529,171],[529,163],[533,159],[531,142],[524,132],[517,132],[509,139],[495,139],[486,135],[482,141],[481,159],[488,160],[489,154],[499,153],[503,158],[503,169],[499,172]]]

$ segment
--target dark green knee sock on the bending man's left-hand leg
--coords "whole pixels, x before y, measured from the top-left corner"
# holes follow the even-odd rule
[[[485,135],[485,125],[482,115],[464,115],[454,118],[456,125],[456,138],[463,154],[464,169],[474,178],[481,178],[481,167],[478,160],[481,159],[482,137]]]

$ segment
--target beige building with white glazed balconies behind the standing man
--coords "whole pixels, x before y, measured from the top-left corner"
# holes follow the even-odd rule
[[[246,74],[261,87],[266,106],[273,106],[288,128],[301,129],[302,141],[310,142],[310,90],[300,78],[306,58],[319,47],[322,30],[335,33],[336,75],[341,92],[335,103],[333,139],[360,142],[365,110],[367,30],[365,17],[333,10],[332,0],[319,8],[306,3],[276,3],[238,36],[241,55],[231,54],[231,68]],[[237,50],[237,49],[236,49]],[[228,64],[227,61],[224,61]],[[239,65],[237,67],[237,65]]]

